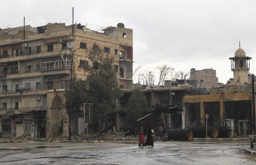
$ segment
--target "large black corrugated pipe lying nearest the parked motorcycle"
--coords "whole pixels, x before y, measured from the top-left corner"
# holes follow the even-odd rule
[[[189,129],[166,130],[168,140],[191,140],[193,132]]]

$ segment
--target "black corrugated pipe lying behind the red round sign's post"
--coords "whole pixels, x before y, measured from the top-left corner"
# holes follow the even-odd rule
[[[206,137],[206,127],[188,127],[193,132],[194,138],[205,138]],[[216,127],[207,127],[207,136],[212,138],[217,138],[219,131]]]

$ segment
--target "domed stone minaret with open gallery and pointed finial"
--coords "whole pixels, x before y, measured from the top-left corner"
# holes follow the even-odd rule
[[[235,52],[235,57],[230,57],[231,71],[234,72],[234,83],[244,83],[248,81],[248,71],[250,70],[250,59],[252,57],[246,57],[245,51],[239,48]]]

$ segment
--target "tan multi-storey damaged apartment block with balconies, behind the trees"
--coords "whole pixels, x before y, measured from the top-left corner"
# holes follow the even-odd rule
[[[60,50],[87,49],[98,44],[114,57],[116,79],[120,88],[132,89],[132,29],[107,27],[104,32],[85,26],[48,23],[45,26],[20,27],[0,30],[0,132],[2,137],[31,138],[68,137],[68,115],[64,107],[64,91],[73,74],[85,79],[79,71],[77,57],[86,55],[82,49],[63,60]],[[88,51],[87,51],[87,55]],[[88,60],[88,58],[86,59]],[[94,65],[92,61],[86,61]],[[84,132],[81,114],[71,115],[71,133]],[[12,126],[11,124],[15,124]],[[80,130],[79,130],[80,128]],[[81,129],[82,128],[82,129]]]

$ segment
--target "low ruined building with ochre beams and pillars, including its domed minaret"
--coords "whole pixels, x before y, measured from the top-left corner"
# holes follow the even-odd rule
[[[230,126],[233,137],[252,134],[252,84],[248,82],[251,57],[240,48],[230,57],[234,83],[220,87],[190,89],[182,104],[182,127],[205,126],[205,114],[209,114],[208,126]],[[230,121],[234,125],[230,125]],[[246,135],[244,135],[246,130]],[[255,132],[254,132],[255,133]]]

